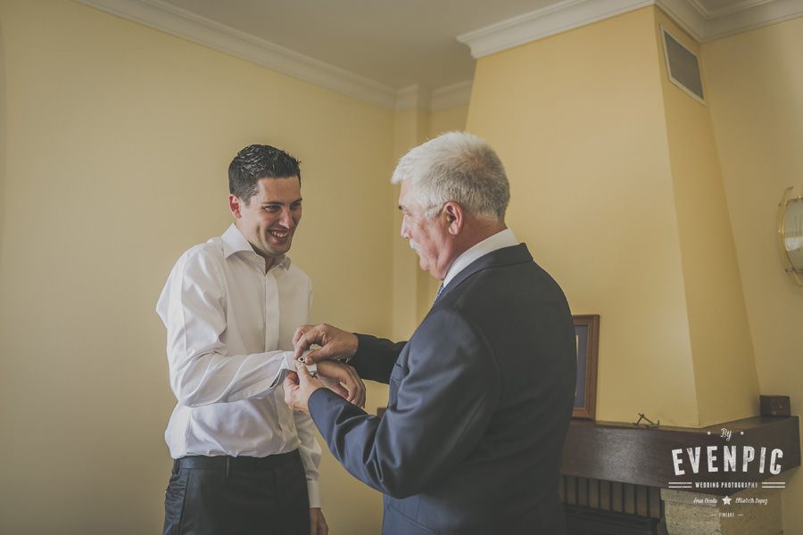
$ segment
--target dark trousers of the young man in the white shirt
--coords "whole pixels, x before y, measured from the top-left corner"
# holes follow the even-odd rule
[[[269,457],[190,456],[173,463],[164,535],[310,535],[298,451]]]

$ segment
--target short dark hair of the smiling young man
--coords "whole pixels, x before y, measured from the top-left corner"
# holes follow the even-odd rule
[[[256,185],[262,178],[298,177],[301,184],[301,169],[287,152],[270,145],[248,145],[237,152],[228,165],[228,193],[244,200],[247,205],[256,193]]]

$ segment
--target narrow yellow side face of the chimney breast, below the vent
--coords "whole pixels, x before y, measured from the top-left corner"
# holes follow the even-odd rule
[[[700,46],[654,11],[700,425],[717,424],[758,414],[756,366],[711,116],[669,81],[660,27]]]

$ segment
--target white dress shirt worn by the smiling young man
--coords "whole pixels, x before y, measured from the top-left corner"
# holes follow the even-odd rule
[[[266,274],[235,225],[181,255],[156,306],[178,399],[164,434],[171,457],[298,449],[310,507],[320,506],[315,425],[286,406],[281,385],[311,305],[310,278],[287,257]]]

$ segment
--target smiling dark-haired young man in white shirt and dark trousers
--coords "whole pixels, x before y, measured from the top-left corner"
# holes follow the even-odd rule
[[[325,535],[315,426],[281,388],[312,302],[309,277],[286,256],[302,217],[299,162],[250,145],[228,182],[235,223],[178,259],[157,305],[178,399],[165,432],[175,460],[164,533]],[[318,371],[364,403],[352,369]]]

